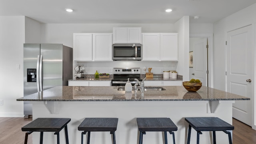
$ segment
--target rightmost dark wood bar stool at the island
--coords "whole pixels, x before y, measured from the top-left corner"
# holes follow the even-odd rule
[[[217,117],[195,117],[185,118],[188,122],[188,142],[190,144],[191,127],[197,132],[196,144],[199,144],[201,131],[212,131],[213,143],[216,144],[216,131],[223,131],[228,134],[229,144],[232,144],[231,133],[227,130],[234,130],[234,126]]]

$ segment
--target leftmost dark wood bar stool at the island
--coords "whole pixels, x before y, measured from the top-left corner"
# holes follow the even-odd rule
[[[57,135],[57,144],[60,144],[60,134],[59,132],[65,128],[65,137],[66,144],[68,143],[68,122],[70,122],[70,118],[37,118],[33,120],[26,126],[21,128],[22,131],[26,131],[25,142],[28,142],[28,134],[32,132],[40,132],[40,144],[43,144],[43,133],[44,132],[55,132]]]

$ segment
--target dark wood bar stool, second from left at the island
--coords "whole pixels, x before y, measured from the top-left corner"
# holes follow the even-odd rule
[[[90,144],[91,132],[110,132],[113,135],[113,143],[116,144],[115,131],[117,128],[118,118],[85,118],[84,121],[78,126],[78,130],[82,132],[81,144],[83,144],[83,137],[86,132],[87,144]]]

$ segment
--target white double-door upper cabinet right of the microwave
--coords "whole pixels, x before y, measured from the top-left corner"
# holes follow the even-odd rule
[[[143,61],[178,61],[178,33],[142,33]]]

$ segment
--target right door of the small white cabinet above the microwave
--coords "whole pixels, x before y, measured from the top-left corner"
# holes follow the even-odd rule
[[[141,28],[131,27],[127,28],[127,43],[140,43],[141,44]]]

